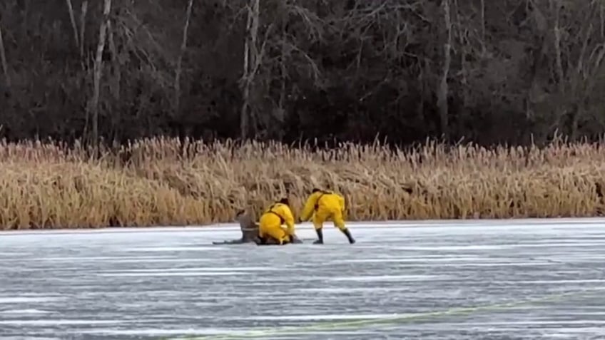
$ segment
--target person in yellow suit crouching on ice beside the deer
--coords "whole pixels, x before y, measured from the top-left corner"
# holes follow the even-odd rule
[[[282,227],[284,224],[286,228]],[[261,244],[300,243],[294,232],[294,216],[288,198],[275,202],[263,212],[258,221],[258,238]]]

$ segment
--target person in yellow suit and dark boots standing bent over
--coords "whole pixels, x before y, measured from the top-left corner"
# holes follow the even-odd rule
[[[313,215],[313,227],[317,232],[317,241],[314,244],[323,244],[323,222],[331,219],[334,226],[337,227],[342,234],[347,236],[349,243],[355,243],[355,239],[351,236],[351,232],[345,227],[343,213],[345,212],[345,197],[329,190],[313,189],[312,194],[307,199],[303,212],[300,214],[301,221],[307,221]]]

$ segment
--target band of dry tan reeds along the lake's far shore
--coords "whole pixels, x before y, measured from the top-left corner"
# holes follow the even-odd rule
[[[0,228],[227,222],[283,195],[298,215],[312,187],[343,192],[350,220],[594,216],[604,205],[603,146],[313,151],[158,138],[94,159],[78,145],[3,142]]]

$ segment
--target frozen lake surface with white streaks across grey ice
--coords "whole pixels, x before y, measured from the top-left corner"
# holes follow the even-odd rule
[[[0,339],[603,339],[605,219],[0,233]],[[315,237],[310,225],[303,239]]]

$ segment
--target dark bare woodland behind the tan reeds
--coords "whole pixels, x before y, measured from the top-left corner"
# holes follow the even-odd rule
[[[605,4],[4,0],[0,137],[605,133]]]

